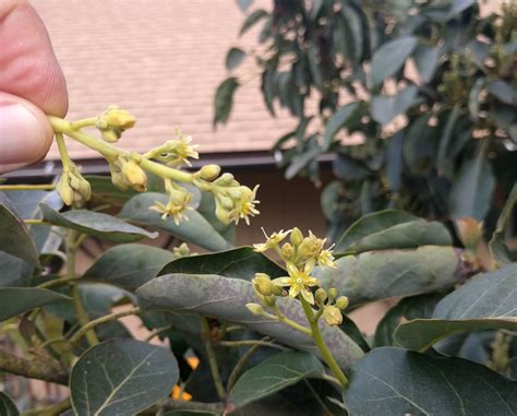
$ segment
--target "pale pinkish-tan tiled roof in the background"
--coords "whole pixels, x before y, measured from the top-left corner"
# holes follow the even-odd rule
[[[230,122],[213,130],[214,94],[227,75],[226,52],[256,39],[256,33],[238,38],[244,15],[235,0],[32,4],[47,25],[68,80],[68,118],[92,117],[111,104],[137,117],[120,146],[147,150],[171,139],[173,127],[180,126],[201,153],[264,151],[294,124],[286,114],[276,119],[267,114],[255,80],[237,92]],[[72,141],[70,153],[74,158],[97,156]],[[57,155],[52,147],[47,159]]]

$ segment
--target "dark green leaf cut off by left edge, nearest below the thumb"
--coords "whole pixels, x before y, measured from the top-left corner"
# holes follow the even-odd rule
[[[36,247],[23,222],[5,205],[0,204],[0,250],[39,265]]]

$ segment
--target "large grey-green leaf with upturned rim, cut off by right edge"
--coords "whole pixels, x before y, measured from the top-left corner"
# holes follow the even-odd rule
[[[437,341],[465,331],[517,330],[517,263],[471,278],[444,297],[431,319],[401,324],[395,341],[425,350]]]

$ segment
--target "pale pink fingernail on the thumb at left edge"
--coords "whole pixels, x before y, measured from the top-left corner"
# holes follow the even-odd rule
[[[0,170],[38,161],[46,133],[46,127],[22,104],[0,103]]]

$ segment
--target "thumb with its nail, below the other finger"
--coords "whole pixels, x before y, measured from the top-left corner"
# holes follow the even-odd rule
[[[38,162],[52,142],[45,114],[31,102],[0,92],[0,174]]]

